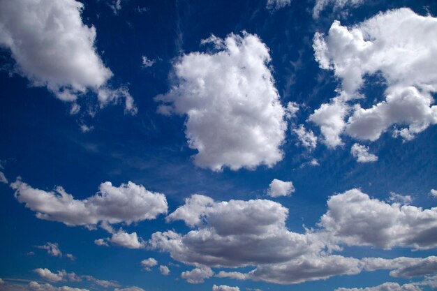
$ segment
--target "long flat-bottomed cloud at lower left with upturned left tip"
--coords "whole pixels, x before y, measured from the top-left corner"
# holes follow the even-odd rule
[[[62,187],[47,192],[20,179],[10,186],[15,190],[15,198],[35,211],[36,217],[66,225],[129,224],[154,219],[168,209],[165,195],[147,191],[131,181],[119,187],[111,182],[102,183],[98,193],[84,200],[76,200]]]

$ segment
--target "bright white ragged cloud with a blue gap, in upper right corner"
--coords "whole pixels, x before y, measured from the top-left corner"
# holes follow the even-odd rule
[[[340,145],[343,132],[373,141],[393,126],[395,137],[411,140],[437,123],[437,106],[432,105],[437,91],[436,18],[401,8],[354,27],[335,21],[327,36],[316,33],[313,47],[320,67],[334,70],[341,80],[339,96],[310,117],[329,146]],[[377,73],[387,85],[383,100],[369,108],[350,106],[362,97],[364,77]],[[336,110],[329,110],[334,105]]]

